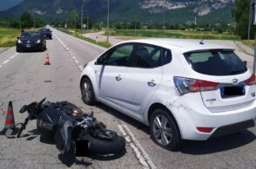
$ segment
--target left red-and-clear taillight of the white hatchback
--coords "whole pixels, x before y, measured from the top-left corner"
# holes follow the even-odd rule
[[[180,95],[215,90],[219,84],[217,82],[201,81],[185,77],[174,77],[173,80]]]

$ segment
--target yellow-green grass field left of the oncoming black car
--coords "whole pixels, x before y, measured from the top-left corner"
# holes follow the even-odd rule
[[[12,47],[16,45],[20,29],[0,29],[0,47]]]

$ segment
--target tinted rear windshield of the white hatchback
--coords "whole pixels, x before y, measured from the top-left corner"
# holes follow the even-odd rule
[[[185,54],[196,72],[204,75],[239,75],[247,71],[246,64],[232,50],[203,51]]]

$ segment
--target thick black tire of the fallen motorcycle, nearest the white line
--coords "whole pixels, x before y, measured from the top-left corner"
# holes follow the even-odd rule
[[[117,154],[125,150],[125,138],[118,134],[112,140],[96,139],[90,134],[85,135],[83,139],[88,140],[90,153],[98,155]]]

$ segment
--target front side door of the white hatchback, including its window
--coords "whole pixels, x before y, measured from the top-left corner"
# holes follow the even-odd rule
[[[132,50],[133,44],[119,45],[111,49],[108,54],[103,55],[104,63],[97,66],[99,97],[120,107],[123,106],[122,85]]]

